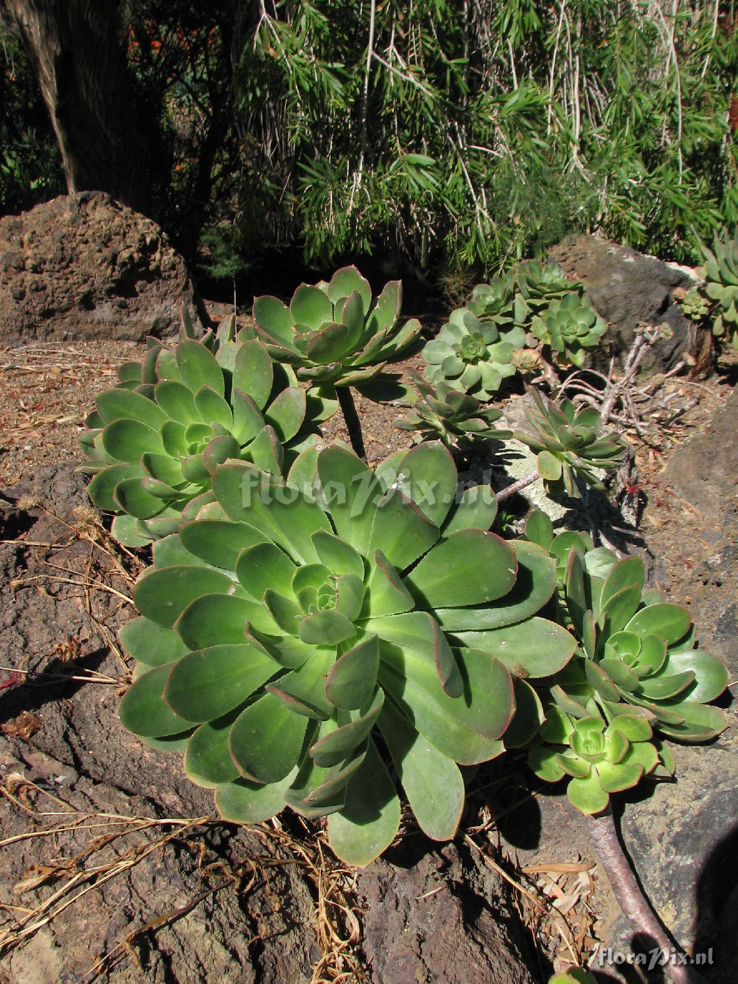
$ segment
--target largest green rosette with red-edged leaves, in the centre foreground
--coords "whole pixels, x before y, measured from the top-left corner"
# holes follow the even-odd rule
[[[486,531],[493,497],[458,494],[443,446],[396,465],[380,476],[338,446],[287,482],[218,465],[215,503],[154,544],[120,635],[141,663],[126,727],[184,750],[225,819],[328,816],[357,865],[399,829],[388,761],[421,829],[452,837],[459,765],[503,751],[526,697],[514,677],[560,670],[576,645],[535,615],[555,562]]]

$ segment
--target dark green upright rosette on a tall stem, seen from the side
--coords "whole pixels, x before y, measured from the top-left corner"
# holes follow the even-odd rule
[[[301,284],[289,305],[257,297],[254,319],[267,350],[297,378],[317,385],[361,387],[407,354],[421,331],[416,319],[399,324],[402,287],[388,283],[376,300],[355,267],[330,282]]]

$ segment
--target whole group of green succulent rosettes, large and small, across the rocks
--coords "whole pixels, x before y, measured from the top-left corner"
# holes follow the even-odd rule
[[[397,329],[399,284],[373,300],[355,268],[289,305],[258,298],[260,338],[230,318],[198,340],[183,312],[178,341],[151,339],[97,398],[90,495],[121,542],[152,544],[120,633],[138,662],[120,716],[184,752],[225,819],[326,817],[338,857],[365,865],[396,837],[400,795],[426,834],[453,837],[462,769],[506,749],[568,776],[595,813],[673,771],[661,737],[725,726],[710,704],[724,665],[686,609],[644,589],[639,560],[537,512],[505,541],[491,489],[459,488],[450,449],[510,436],[480,400],[535,356],[519,316],[570,297],[559,268],[534,264],[475,288],[426,346],[430,380],[414,375],[398,421],[414,447],[376,470],[323,448],[318,424],[335,387],[376,386],[419,326]],[[593,409],[532,399],[518,436],[549,494],[576,496],[577,476],[601,487],[622,439]]]

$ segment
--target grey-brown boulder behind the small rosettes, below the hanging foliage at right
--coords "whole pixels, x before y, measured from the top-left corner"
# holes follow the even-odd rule
[[[702,366],[710,351],[708,332],[685,318],[674,301],[675,287],[690,287],[689,273],[645,256],[628,246],[618,246],[597,236],[573,235],[554,246],[548,259],[561,264],[570,277],[584,280],[591,302],[610,323],[604,341],[621,358],[628,352],[639,325],[668,325],[671,338],[660,339],[646,354],[644,370],[667,371],[683,351]],[[704,351],[707,346],[707,353]],[[606,346],[592,356],[595,365],[609,362]]]

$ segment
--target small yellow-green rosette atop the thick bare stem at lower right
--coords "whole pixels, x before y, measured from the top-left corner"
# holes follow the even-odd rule
[[[610,793],[631,789],[658,766],[652,734],[636,714],[618,714],[607,723],[596,713],[578,718],[549,707],[538,735],[545,744],[530,749],[528,766],[546,782],[568,775],[569,802],[584,814],[600,813]]]

